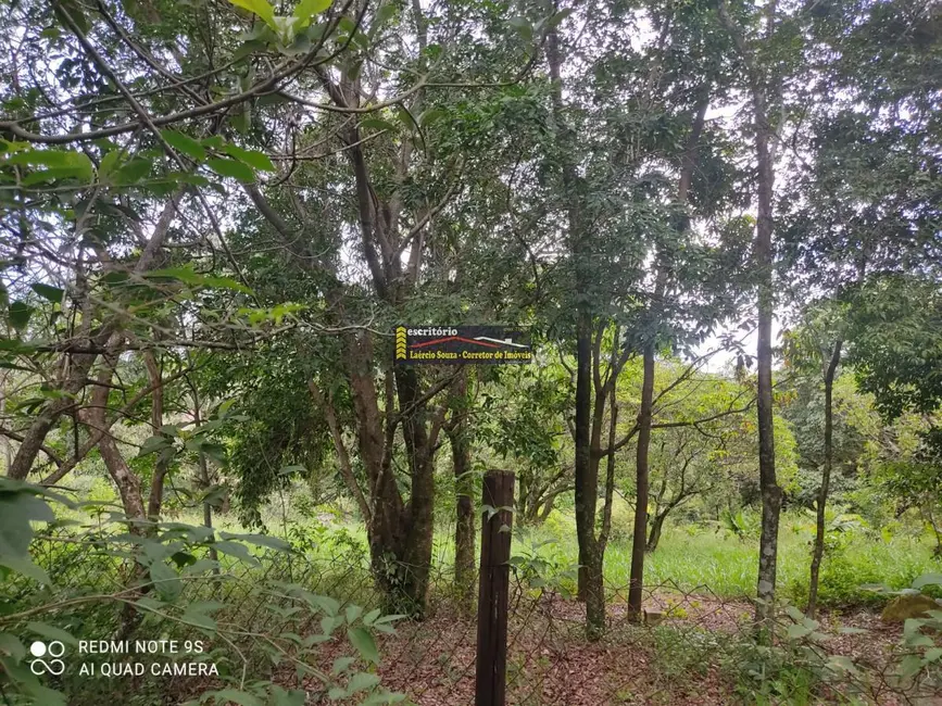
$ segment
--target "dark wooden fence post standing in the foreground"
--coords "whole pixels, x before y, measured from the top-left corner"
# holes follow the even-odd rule
[[[481,492],[481,565],[478,592],[476,706],[504,706],[507,672],[507,600],[514,474],[489,470]]]

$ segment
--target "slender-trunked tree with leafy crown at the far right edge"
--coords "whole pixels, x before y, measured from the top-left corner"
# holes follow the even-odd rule
[[[831,391],[846,317],[854,316],[857,302],[870,299],[871,294],[859,299],[855,293],[868,275],[933,267],[931,224],[938,204],[927,189],[931,167],[926,155],[938,146],[939,133],[927,121],[931,109],[926,103],[926,71],[938,62],[933,41],[925,34],[932,24],[931,12],[905,1],[886,2],[818,8],[804,21],[809,46],[827,47],[829,59],[819,65],[807,62],[806,87],[800,91],[808,98],[836,98],[806,101],[794,139],[807,131],[804,141],[811,159],[796,155],[797,178],[782,199],[782,250],[794,282],[791,295],[815,319],[803,320],[803,332],[815,339],[805,341],[805,351],[812,365],[821,368],[825,384],[822,483],[808,604],[813,615],[833,455]],[[915,43],[904,42],[892,59],[883,53],[881,48],[896,46],[909,33],[918,37]],[[822,293],[822,305],[804,306],[808,287]],[[829,331],[819,326],[822,311],[829,312]],[[852,351],[853,341],[846,344]]]

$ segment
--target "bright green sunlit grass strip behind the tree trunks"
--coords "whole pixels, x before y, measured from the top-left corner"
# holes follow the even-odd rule
[[[99,482],[90,494],[112,493],[106,483]],[[281,528],[287,526],[296,540],[299,534],[309,538],[302,544],[310,560],[336,559],[338,555],[353,553],[356,547],[365,554],[365,530],[350,512],[337,512],[336,519],[326,521],[324,527],[314,512],[300,512],[293,505],[290,500],[286,503],[286,517],[281,514],[280,502],[273,502],[263,513],[265,525],[275,534],[280,534]],[[173,519],[201,524],[196,512]],[[217,516],[214,524],[217,529],[247,531],[239,526],[235,512]],[[605,554],[606,583],[626,594],[631,568],[631,524],[630,509],[616,507],[613,539]],[[452,537],[453,526],[445,518],[437,527],[435,537],[434,563],[439,572],[448,572],[453,562]],[[778,585],[780,595],[796,605],[803,605],[806,598],[813,538],[814,524],[807,515],[796,512],[782,515]],[[891,534],[857,528],[836,535],[836,540],[838,546],[826,554],[821,570],[819,600],[826,606],[879,603],[886,598],[862,585],[881,583],[899,590],[908,588],[913,579],[922,573],[942,571],[942,562],[932,556],[932,542],[918,530]],[[578,549],[573,514],[555,510],[542,526],[515,527],[512,554],[529,557],[535,570],[562,577],[564,583],[569,582],[565,588],[574,588]],[[737,538],[723,529],[668,520],[657,550],[645,556],[645,584],[673,582],[681,590],[708,590],[721,598],[750,597],[755,594],[757,563],[757,530]]]

